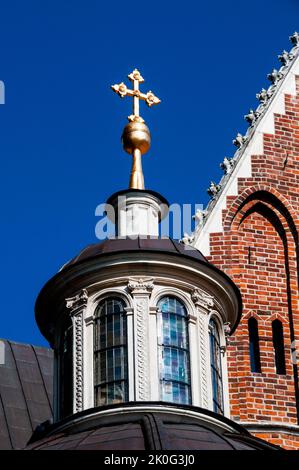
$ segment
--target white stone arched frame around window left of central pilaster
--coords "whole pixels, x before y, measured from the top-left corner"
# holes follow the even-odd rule
[[[84,371],[84,405],[83,409],[95,406],[94,394],[94,328],[95,313],[98,305],[108,298],[120,298],[125,303],[127,319],[127,361],[128,361],[128,396],[134,400],[134,354],[133,345],[133,303],[124,288],[106,288],[90,295],[83,314],[83,371]]]

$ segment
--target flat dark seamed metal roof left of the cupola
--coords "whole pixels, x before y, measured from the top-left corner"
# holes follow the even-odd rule
[[[22,449],[52,418],[53,351],[0,341],[0,449]]]

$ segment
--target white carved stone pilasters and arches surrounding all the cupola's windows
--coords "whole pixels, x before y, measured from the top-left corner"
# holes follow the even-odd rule
[[[131,279],[131,278],[130,278]],[[89,294],[87,302],[82,305],[82,387],[81,409],[94,407],[94,325],[95,311],[99,303],[107,298],[119,297],[125,302],[127,313],[127,357],[128,357],[128,395],[129,401],[160,401],[160,378],[158,357],[158,302],[163,297],[171,296],[180,300],[187,311],[190,374],[191,374],[191,404],[213,410],[212,378],[210,371],[209,322],[214,318],[219,328],[222,346],[222,382],[224,415],[229,417],[229,393],[226,360],[226,337],[224,320],[221,314],[211,308],[195,303],[192,291],[188,288],[149,283],[149,288],[141,292],[131,288],[128,292],[128,280],[118,287],[101,288],[92,286],[93,293]],[[133,282],[135,279],[133,280]],[[138,279],[136,278],[136,282]],[[162,280],[161,282],[170,282]],[[138,282],[137,282],[138,284]],[[98,289],[95,292],[95,289]],[[198,288],[196,288],[198,291]],[[205,295],[205,292],[202,291]],[[142,307],[139,311],[139,307]],[[139,328],[139,322],[145,322]],[[140,331],[140,330],[144,331]],[[140,333],[142,333],[140,337]],[[74,332],[75,334],[75,332]],[[136,359],[139,354],[139,358]],[[74,373],[78,368],[78,355],[74,348]],[[80,366],[80,364],[79,364]],[[144,382],[145,378],[145,383]],[[74,375],[74,412],[80,411],[76,403],[78,378]]]

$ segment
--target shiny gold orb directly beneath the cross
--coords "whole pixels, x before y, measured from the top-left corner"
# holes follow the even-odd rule
[[[129,122],[123,130],[121,139],[124,150],[128,153],[133,153],[135,149],[139,149],[144,154],[151,145],[151,134],[144,122]]]

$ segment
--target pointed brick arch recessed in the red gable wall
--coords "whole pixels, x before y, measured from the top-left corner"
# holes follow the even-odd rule
[[[230,205],[229,209],[224,213],[223,227],[224,235],[229,234],[230,246],[229,256],[232,260],[230,265],[230,274],[236,279],[238,277],[238,269],[240,263],[240,253],[244,260],[244,249],[240,249],[242,241],[239,236],[241,226],[246,219],[252,215],[258,214],[266,219],[274,228],[282,242],[282,253],[285,273],[285,289],[288,315],[288,337],[290,341],[295,339],[294,314],[298,310],[298,286],[299,286],[299,242],[298,228],[299,219],[292,205],[285,196],[280,194],[276,189],[262,184],[246,188]],[[243,251],[242,251],[243,250]],[[249,251],[249,249],[248,249]],[[250,259],[250,257],[249,257]],[[275,261],[274,261],[275,262]],[[280,261],[281,262],[281,261]],[[250,267],[250,263],[248,263]],[[283,265],[282,265],[283,266]],[[251,269],[252,269],[251,265]],[[268,309],[268,314],[271,310]],[[269,323],[268,323],[269,325]],[[271,326],[269,325],[269,336],[271,335]],[[268,327],[267,327],[268,328]],[[278,335],[278,334],[277,334]],[[277,336],[278,337],[278,336]],[[276,343],[275,343],[276,344]],[[281,341],[277,342],[281,344]],[[274,348],[275,349],[275,348]],[[276,348],[276,350],[278,350]],[[276,351],[275,350],[275,351]],[[280,346],[280,351],[282,347]],[[276,353],[275,360],[278,357]],[[282,357],[282,353],[280,353]],[[284,372],[283,362],[279,363],[276,369],[281,373]],[[293,368],[293,384],[297,403],[297,418],[299,422],[299,386],[298,386],[298,366],[292,364]],[[279,373],[279,372],[277,372]]]

